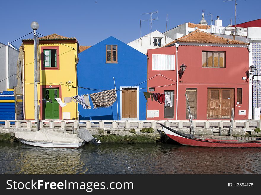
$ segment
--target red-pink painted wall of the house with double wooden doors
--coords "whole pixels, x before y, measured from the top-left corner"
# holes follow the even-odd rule
[[[225,51],[226,68],[206,68],[202,67],[202,51]],[[152,70],[152,54],[175,54],[176,47],[164,47],[159,49],[148,50],[148,79],[156,74],[162,74],[176,81],[176,64],[175,71],[156,71]],[[184,63],[187,68],[178,83],[178,120],[186,118],[186,88],[197,88],[197,120],[207,119],[207,90],[208,88],[235,88],[235,119],[248,119],[248,102],[249,102],[249,82],[242,80],[246,76],[249,68],[248,49],[243,47],[210,47],[210,46],[184,46],[178,48],[178,70],[179,66]],[[176,56],[175,56],[176,63]],[[174,85],[171,85],[174,84]],[[176,118],[176,83],[167,80],[163,76],[156,76],[148,81],[148,87],[161,85],[170,85],[155,88],[155,93],[164,93],[164,90],[172,90],[174,97],[174,119]],[[237,88],[243,89],[242,104],[236,105]],[[238,107],[240,106],[240,107]],[[159,110],[159,117],[147,118],[147,120],[174,120],[164,118],[164,105],[158,102],[148,100],[147,110]],[[246,110],[246,115],[238,115],[238,110]],[[225,119],[227,120],[227,119]]]

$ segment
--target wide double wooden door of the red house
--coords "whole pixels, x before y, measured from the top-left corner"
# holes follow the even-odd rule
[[[209,88],[207,118],[231,118],[235,89]]]

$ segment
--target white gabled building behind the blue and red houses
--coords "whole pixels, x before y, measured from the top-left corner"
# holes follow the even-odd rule
[[[146,54],[148,49],[163,47],[172,41],[174,40],[162,34],[161,32],[153,31],[151,34],[146,34],[145,36],[136,39],[127,45],[133,47],[141,53]]]

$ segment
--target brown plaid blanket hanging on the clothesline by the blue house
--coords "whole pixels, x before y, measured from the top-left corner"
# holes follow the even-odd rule
[[[98,93],[89,94],[93,102],[93,109],[110,107],[116,102],[116,90],[111,89],[107,91],[101,91]]]

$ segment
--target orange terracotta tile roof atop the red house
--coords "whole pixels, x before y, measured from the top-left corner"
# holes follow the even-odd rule
[[[165,45],[172,45],[175,42],[187,42],[187,43],[214,43],[214,44],[240,44],[240,45],[248,45],[248,43],[237,41],[233,39],[226,39],[223,37],[219,37],[217,35],[200,31],[199,29],[193,31],[190,34],[187,34],[184,37],[178,38],[173,42]]]

